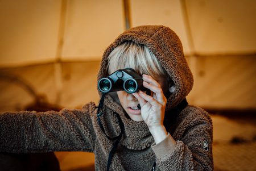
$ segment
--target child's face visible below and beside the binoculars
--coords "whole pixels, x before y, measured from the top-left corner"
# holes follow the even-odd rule
[[[168,81],[166,81],[166,78],[160,77],[156,81],[161,85],[163,93],[166,95],[168,91]],[[137,122],[143,121],[141,110],[138,110],[137,107],[139,105],[137,98],[133,94],[126,93],[126,91],[117,91],[117,95],[123,109],[130,118]]]

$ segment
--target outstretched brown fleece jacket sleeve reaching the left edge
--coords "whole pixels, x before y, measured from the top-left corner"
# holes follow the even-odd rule
[[[92,152],[96,135],[90,114],[95,109],[88,103],[82,110],[0,114],[0,152]]]

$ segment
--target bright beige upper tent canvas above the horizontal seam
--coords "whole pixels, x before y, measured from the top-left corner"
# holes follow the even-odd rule
[[[255,53],[255,6],[253,0],[131,0],[131,26],[172,28],[189,56]],[[100,60],[125,30],[118,0],[3,1],[0,23],[0,66]]]

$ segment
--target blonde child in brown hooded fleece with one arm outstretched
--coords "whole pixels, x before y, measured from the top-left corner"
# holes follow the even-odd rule
[[[164,26],[124,32],[106,49],[98,80],[125,68],[151,94],[99,91],[98,107],[1,114],[0,152],[93,152],[96,170],[213,170],[212,120],[185,100],[193,77],[179,37]]]

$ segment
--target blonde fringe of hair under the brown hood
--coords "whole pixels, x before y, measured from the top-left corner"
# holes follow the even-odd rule
[[[135,72],[150,75],[154,79],[167,77],[166,71],[150,49],[132,41],[125,41],[109,54],[107,68],[109,74],[118,69],[133,68]]]

